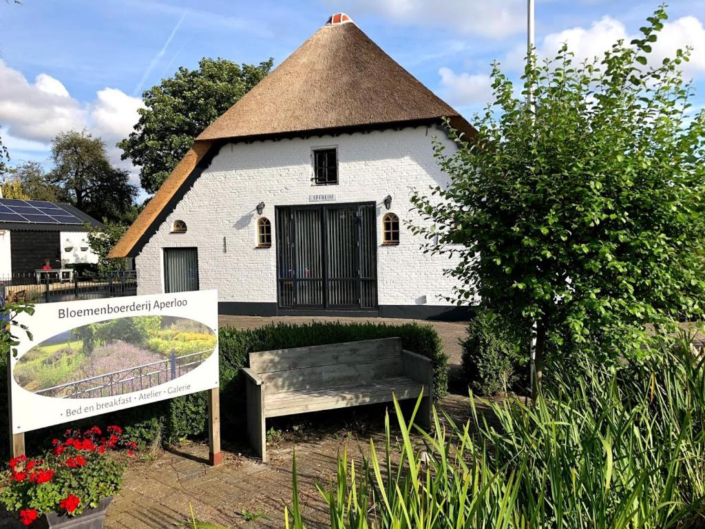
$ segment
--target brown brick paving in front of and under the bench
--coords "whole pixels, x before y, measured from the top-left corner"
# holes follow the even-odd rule
[[[467,396],[449,395],[441,407],[456,420],[465,420],[470,413]],[[201,443],[159,451],[149,461],[135,462],[125,476],[122,492],[109,508],[106,528],[183,525],[190,518],[190,506],[198,521],[227,528],[283,528],[284,506],[291,501],[294,450],[307,527],[329,527],[328,510],[317,482],[327,485],[334,478],[336,457],[343,446],[357,461],[367,454],[370,438],[380,449],[384,446],[384,406],[364,408],[352,422],[347,420],[351,415],[347,412],[346,418],[338,413],[337,420],[336,415],[325,412],[301,415],[299,418],[309,419],[295,433],[291,433],[291,427],[296,430],[296,418],[288,424],[278,423],[276,426],[287,428],[289,434],[270,445],[270,462],[266,465],[252,456],[245,444],[226,445],[223,465],[216,468],[207,465],[208,448]],[[243,511],[264,516],[247,521]]]

